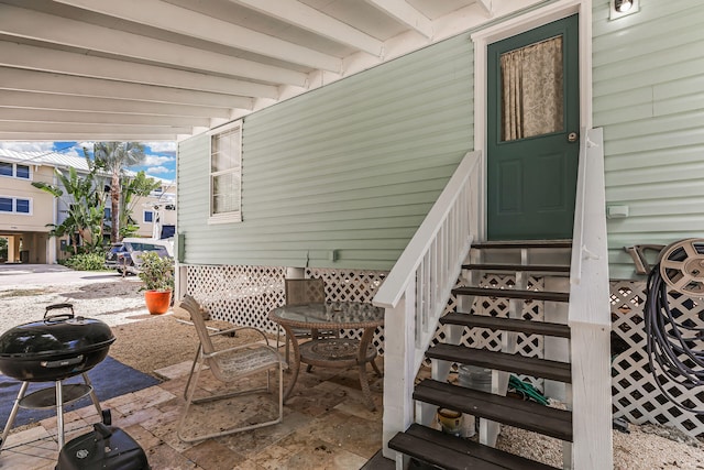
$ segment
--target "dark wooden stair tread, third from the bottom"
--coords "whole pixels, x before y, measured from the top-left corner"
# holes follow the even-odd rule
[[[527,356],[447,343],[439,343],[429,348],[426,356],[430,359],[440,359],[443,361],[479,365],[486,369],[516,372],[564,383],[572,382],[572,367],[568,362],[529,358]]]

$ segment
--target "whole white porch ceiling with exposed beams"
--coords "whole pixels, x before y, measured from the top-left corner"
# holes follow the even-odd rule
[[[0,0],[0,141],[179,140],[538,0]]]

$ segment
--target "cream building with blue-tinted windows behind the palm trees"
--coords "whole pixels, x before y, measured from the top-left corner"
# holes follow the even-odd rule
[[[54,170],[69,167],[84,174],[88,172],[84,157],[0,149],[0,238],[8,240],[7,259],[0,262],[52,264],[65,258],[63,248],[67,239],[50,237],[48,226],[63,222],[67,207],[61,198],[54,198],[32,183],[55,184]],[[161,236],[161,227],[173,229],[176,225],[176,186],[165,179],[155,179],[161,182],[160,188],[131,204],[132,217],[140,226],[136,237],[153,237],[155,227],[160,227]],[[110,222],[109,210],[106,210],[107,223]]]

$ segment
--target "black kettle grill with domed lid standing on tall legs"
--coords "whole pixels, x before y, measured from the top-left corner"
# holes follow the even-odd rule
[[[70,314],[48,315],[55,309],[69,309]],[[0,336],[0,372],[22,382],[0,438],[0,450],[20,407],[56,407],[59,448],[64,446],[64,404],[90,395],[103,423],[109,425],[110,414],[101,411],[87,372],[108,356],[114,340],[103,321],[76,317],[73,304],[50,305],[41,321],[18,325]],[[62,384],[78,374],[82,374],[84,384]],[[25,396],[30,382],[55,382],[55,387]]]

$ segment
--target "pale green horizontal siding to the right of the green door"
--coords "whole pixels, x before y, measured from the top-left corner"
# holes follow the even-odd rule
[[[594,125],[604,128],[612,278],[635,276],[624,247],[704,234],[704,3],[640,0],[608,20],[593,10]]]

